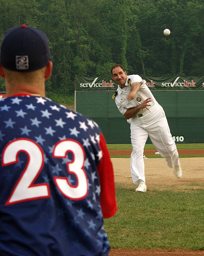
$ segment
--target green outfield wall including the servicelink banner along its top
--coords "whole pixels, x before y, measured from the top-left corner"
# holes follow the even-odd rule
[[[164,108],[175,142],[204,143],[204,76],[142,78]],[[75,110],[98,123],[108,144],[129,144],[130,124],[111,99],[116,89],[111,76],[76,76]]]

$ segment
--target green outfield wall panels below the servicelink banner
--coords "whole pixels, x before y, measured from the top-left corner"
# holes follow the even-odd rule
[[[204,91],[152,91],[164,108],[176,143],[204,143]],[[106,143],[130,144],[130,124],[111,99],[113,91],[77,91],[77,112],[94,119]],[[147,143],[151,143],[148,138]]]

